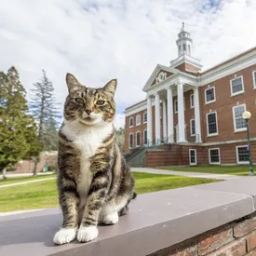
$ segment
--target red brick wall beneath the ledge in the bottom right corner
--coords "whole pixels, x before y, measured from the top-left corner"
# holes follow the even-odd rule
[[[198,223],[200,224],[200,223]],[[256,255],[256,214],[231,222],[148,256]]]

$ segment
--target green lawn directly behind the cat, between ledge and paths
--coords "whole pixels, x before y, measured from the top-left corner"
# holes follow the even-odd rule
[[[187,178],[133,172],[138,194],[178,187],[216,182],[214,180]],[[57,207],[56,181],[34,182],[0,189],[0,211],[43,209]]]

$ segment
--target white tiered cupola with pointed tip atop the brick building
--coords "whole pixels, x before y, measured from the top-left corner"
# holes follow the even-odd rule
[[[182,22],[181,32],[178,34],[178,40],[176,41],[178,47],[178,56],[183,54],[191,56],[193,40],[190,38],[190,34],[185,30],[185,24]]]

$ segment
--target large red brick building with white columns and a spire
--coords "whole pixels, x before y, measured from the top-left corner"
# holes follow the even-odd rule
[[[247,164],[247,110],[256,163],[256,47],[201,72],[184,24],[176,44],[178,58],[142,88],[146,100],[125,110],[126,152],[149,147],[148,167]]]

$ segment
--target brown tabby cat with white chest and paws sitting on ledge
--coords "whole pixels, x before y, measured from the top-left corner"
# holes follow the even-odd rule
[[[59,131],[58,191],[62,226],[53,241],[88,242],[98,223],[115,224],[136,197],[134,177],[115,141],[113,79],[103,88],[87,88],[66,74],[69,95]]]

